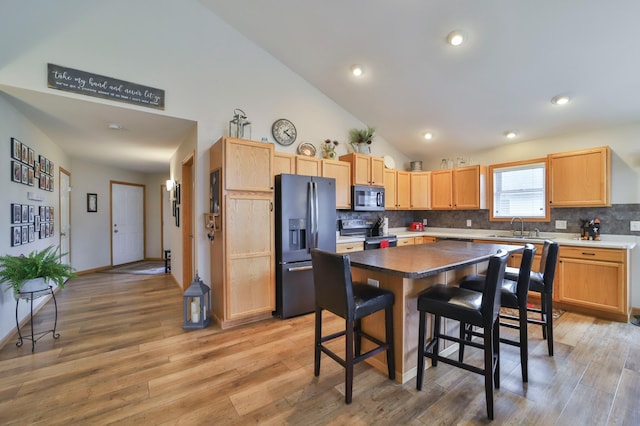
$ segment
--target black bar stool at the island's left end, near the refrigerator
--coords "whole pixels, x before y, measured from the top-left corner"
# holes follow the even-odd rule
[[[353,366],[382,351],[387,353],[389,379],[396,378],[393,353],[393,302],[394,294],[388,290],[351,281],[351,262],[348,255],[311,250],[313,285],[316,295],[315,362],[314,374],[320,375],[320,354],[324,352],[345,368],[345,397],[351,403]],[[345,319],[345,330],[322,336],[322,310],[326,309]],[[377,339],[361,329],[361,319],[384,309],[385,340]],[[324,346],[324,343],[345,336],[345,358]],[[377,346],[361,354],[362,337]],[[354,342],[355,338],[355,342]]]

